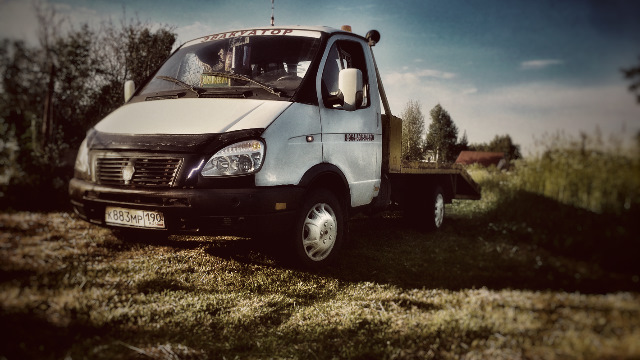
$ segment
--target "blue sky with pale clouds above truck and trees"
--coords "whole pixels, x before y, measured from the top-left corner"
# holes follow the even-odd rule
[[[43,1],[43,0],[41,0]],[[123,13],[175,28],[178,43],[269,26],[270,0],[50,0],[78,26]],[[525,155],[564,133],[631,145],[640,104],[621,69],[640,63],[637,0],[275,0],[275,24],[380,31],[374,52],[391,111],[437,104],[470,143],[508,134]],[[0,38],[36,44],[32,1],[0,0]],[[598,129],[598,130],[596,130]]]

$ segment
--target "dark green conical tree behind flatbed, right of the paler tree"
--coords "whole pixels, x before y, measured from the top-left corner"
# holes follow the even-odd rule
[[[438,164],[452,163],[458,156],[458,127],[440,104],[434,106],[429,114],[431,124],[427,132],[426,148],[435,152]]]

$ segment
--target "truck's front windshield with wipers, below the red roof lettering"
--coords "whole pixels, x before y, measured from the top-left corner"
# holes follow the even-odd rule
[[[295,31],[240,31],[251,36],[225,33],[192,41],[175,52],[153,75],[140,95],[192,90],[204,93],[278,95],[286,99],[302,83],[320,44],[320,34],[296,36]],[[263,33],[263,34],[261,34]],[[264,34],[266,33],[266,34]],[[209,40],[214,39],[214,40]]]

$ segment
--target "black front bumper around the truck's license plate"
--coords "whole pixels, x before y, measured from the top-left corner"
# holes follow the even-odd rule
[[[304,189],[132,189],[72,179],[69,195],[82,219],[101,226],[105,208],[160,211],[172,234],[255,236],[291,226]],[[150,231],[153,231],[149,229]],[[158,230],[155,230],[158,231]]]

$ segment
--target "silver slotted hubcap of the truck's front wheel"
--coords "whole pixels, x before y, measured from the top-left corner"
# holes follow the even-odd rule
[[[302,228],[302,244],[311,260],[320,261],[329,256],[337,235],[336,215],[331,206],[320,203],[309,210]]]

